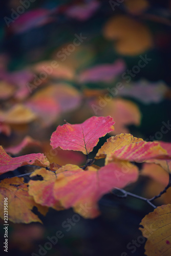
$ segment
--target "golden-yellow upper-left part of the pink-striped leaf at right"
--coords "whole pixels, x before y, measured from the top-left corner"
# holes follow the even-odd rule
[[[143,139],[136,138],[131,134],[121,133],[120,135],[112,136],[98,150],[95,159],[105,158],[112,152],[119,150],[119,148],[139,141],[143,141]]]

